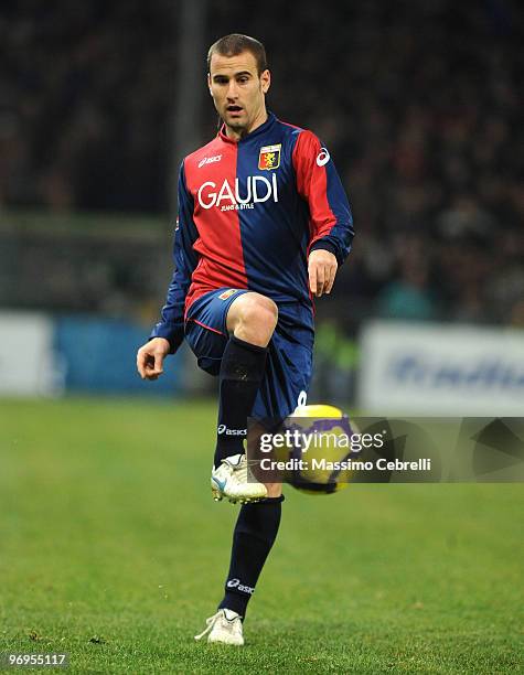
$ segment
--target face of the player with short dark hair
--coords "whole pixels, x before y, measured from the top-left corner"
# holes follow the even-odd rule
[[[250,52],[237,56],[213,54],[210,71],[210,93],[228,129],[243,136],[265,121],[270,75],[264,71],[258,76],[257,62]]]

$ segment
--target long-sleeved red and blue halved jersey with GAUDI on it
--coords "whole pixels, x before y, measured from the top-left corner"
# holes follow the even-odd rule
[[[239,141],[222,129],[182,162],[175,272],[151,338],[174,351],[191,304],[218,288],[311,306],[309,251],[330,250],[341,265],[352,238],[347,197],[314,133],[271,113]]]

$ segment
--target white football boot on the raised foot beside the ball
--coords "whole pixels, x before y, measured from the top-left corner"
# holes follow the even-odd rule
[[[245,454],[233,454],[222,460],[216,469],[213,467],[211,472],[211,492],[215,502],[227,497],[235,504],[246,504],[258,502],[267,497],[267,489],[264,483],[249,482],[248,465]]]

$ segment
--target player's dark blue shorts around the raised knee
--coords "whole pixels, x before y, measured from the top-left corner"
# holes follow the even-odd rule
[[[221,288],[195,300],[185,318],[185,340],[199,366],[218,375],[222,355],[229,335],[227,311],[234,300],[247,290]],[[313,315],[300,302],[278,304],[278,323],[268,346],[266,374],[252,415],[257,418],[281,418],[297,405],[304,405],[311,382],[313,362]]]

